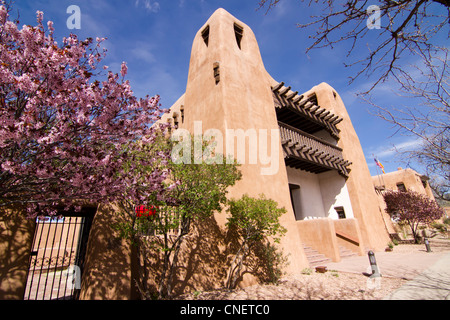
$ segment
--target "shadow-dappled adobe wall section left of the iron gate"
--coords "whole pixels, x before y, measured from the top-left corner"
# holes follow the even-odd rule
[[[36,224],[20,209],[0,210],[0,300],[22,300]]]

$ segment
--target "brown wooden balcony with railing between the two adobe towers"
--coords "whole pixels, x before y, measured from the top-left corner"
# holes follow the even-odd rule
[[[337,170],[348,177],[351,163],[342,149],[283,122],[278,122],[284,160],[287,166],[312,173]]]

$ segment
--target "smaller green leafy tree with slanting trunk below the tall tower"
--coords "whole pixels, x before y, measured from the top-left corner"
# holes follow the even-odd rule
[[[228,212],[231,216],[227,226],[235,228],[239,235],[239,249],[231,262],[226,283],[227,288],[232,289],[255,244],[261,243],[267,237],[278,243],[280,237],[286,233],[286,229],[279,222],[286,209],[278,208],[276,201],[266,199],[263,194],[259,198],[245,194],[238,200],[229,201]]]

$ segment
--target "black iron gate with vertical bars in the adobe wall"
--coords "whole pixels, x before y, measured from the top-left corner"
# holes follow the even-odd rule
[[[78,299],[94,208],[37,218],[25,300]]]

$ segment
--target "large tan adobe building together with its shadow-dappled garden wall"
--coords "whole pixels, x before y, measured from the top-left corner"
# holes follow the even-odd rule
[[[273,79],[252,30],[224,9],[195,35],[186,91],[169,111],[161,121],[205,139],[213,136],[241,162],[242,179],[230,188],[230,198],[265,194],[287,210],[281,217],[287,233],[279,246],[289,259],[288,274],[324,263],[311,259],[314,250],[339,261],[343,248],[363,255],[388,243],[364,153],[339,94],[326,83],[291,88]],[[112,227],[123,219],[116,211],[102,205],[86,216],[92,227],[80,299],[136,298],[136,252]],[[0,216],[2,225],[9,223],[6,218]],[[189,259],[177,275],[180,290],[223,287],[231,254],[223,231],[226,214],[214,218],[208,223],[215,233],[205,225],[186,241],[191,257],[180,258]],[[0,238],[0,299],[21,299],[29,274],[30,230],[36,227],[16,225]],[[20,253],[8,251],[11,241]],[[255,281],[244,277],[241,285]]]

